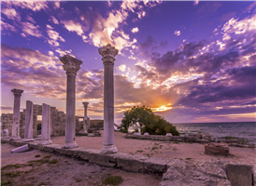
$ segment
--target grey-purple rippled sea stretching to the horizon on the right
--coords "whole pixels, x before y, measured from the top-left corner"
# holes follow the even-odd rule
[[[249,140],[249,143],[256,143],[256,122],[228,122],[228,123],[186,123],[176,126],[180,135],[196,134],[204,132],[213,138],[237,137]]]

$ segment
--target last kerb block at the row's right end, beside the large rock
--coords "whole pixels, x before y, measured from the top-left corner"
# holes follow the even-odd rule
[[[167,164],[170,160],[161,159],[156,157],[149,157],[149,159],[143,162],[144,171],[152,173],[164,173],[167,170]]]

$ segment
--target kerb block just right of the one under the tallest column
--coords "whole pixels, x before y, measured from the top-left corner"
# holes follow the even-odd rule
[[[131,172],[143,172],[143,162],[149,159],[144,155],[117,154],[117,166]]]

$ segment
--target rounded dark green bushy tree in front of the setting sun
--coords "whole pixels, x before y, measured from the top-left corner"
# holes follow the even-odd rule
[[[164,120],[164,117],[156,115],[148,107],[133,107],[124,112],[121,120],[121,132],[128,132],[129,126],[133,126],[135,130],[140,128],[142,134],[149,132],[150,135],[165,135],[172,133],[179,136],[175,126]]]

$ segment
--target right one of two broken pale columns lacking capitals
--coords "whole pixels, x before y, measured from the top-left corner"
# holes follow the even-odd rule
[[[50,140],[50,105],[42,105],[42,125],[41,125],[41,142],[40,144],[51,144]]]

